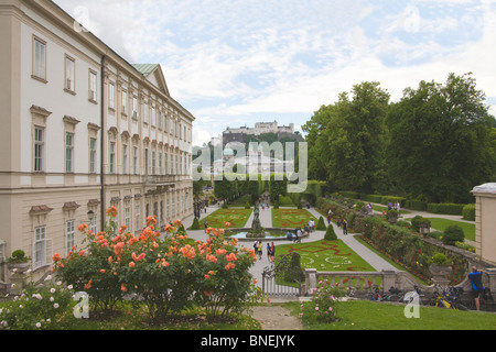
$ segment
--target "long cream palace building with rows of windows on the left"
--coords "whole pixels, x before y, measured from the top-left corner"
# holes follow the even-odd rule
[[[23,250],[43,274],[110,206],[133,232],[193,213],[195,119],[160,65],[128,63],[50,0],[2,0],[0,47],[0,263]]]

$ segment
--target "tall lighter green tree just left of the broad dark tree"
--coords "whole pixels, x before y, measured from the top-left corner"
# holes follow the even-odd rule
[[[386,185],[385,118],[389,94],[379,82],[362,82],[339,95],[326,125],[328,180],[338,189],[373,193]]]

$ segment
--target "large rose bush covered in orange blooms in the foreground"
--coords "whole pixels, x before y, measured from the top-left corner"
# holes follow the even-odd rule
[[[117,209],[107,213],[104,232],[79,227],[86,234],[84,249],[73,249],[65,258],[54,255],[57,275],[89,295],[94,312],[111,311],[126,297],[136,306],[144,304],[152,321],[192,305],[204,307],[212,318],[238,311],[250,299],[255,253],[237,248],[237,240],[225,240],[224,229],[208,229],[206,242],[193,241],[180,220],[161,232],[149,217],[147,228],[134,235],[117,227]]]

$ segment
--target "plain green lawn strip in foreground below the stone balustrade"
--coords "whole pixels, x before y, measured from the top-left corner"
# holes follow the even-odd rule
[[[299,316],[300,302],[284,307]],[[421,306],[419,318],[406,318],[405,305],[351,300],[336,307],[336,322],[303,321],[305,330],[496,330],[494,312],[460,311]]]

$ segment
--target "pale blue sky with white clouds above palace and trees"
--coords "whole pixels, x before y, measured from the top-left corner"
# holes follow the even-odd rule
[[[202,145],[294,123],[363,81],[399,101],[472,73],[496,116],[494,0],[54,0],[131,64],[161,64]]]

